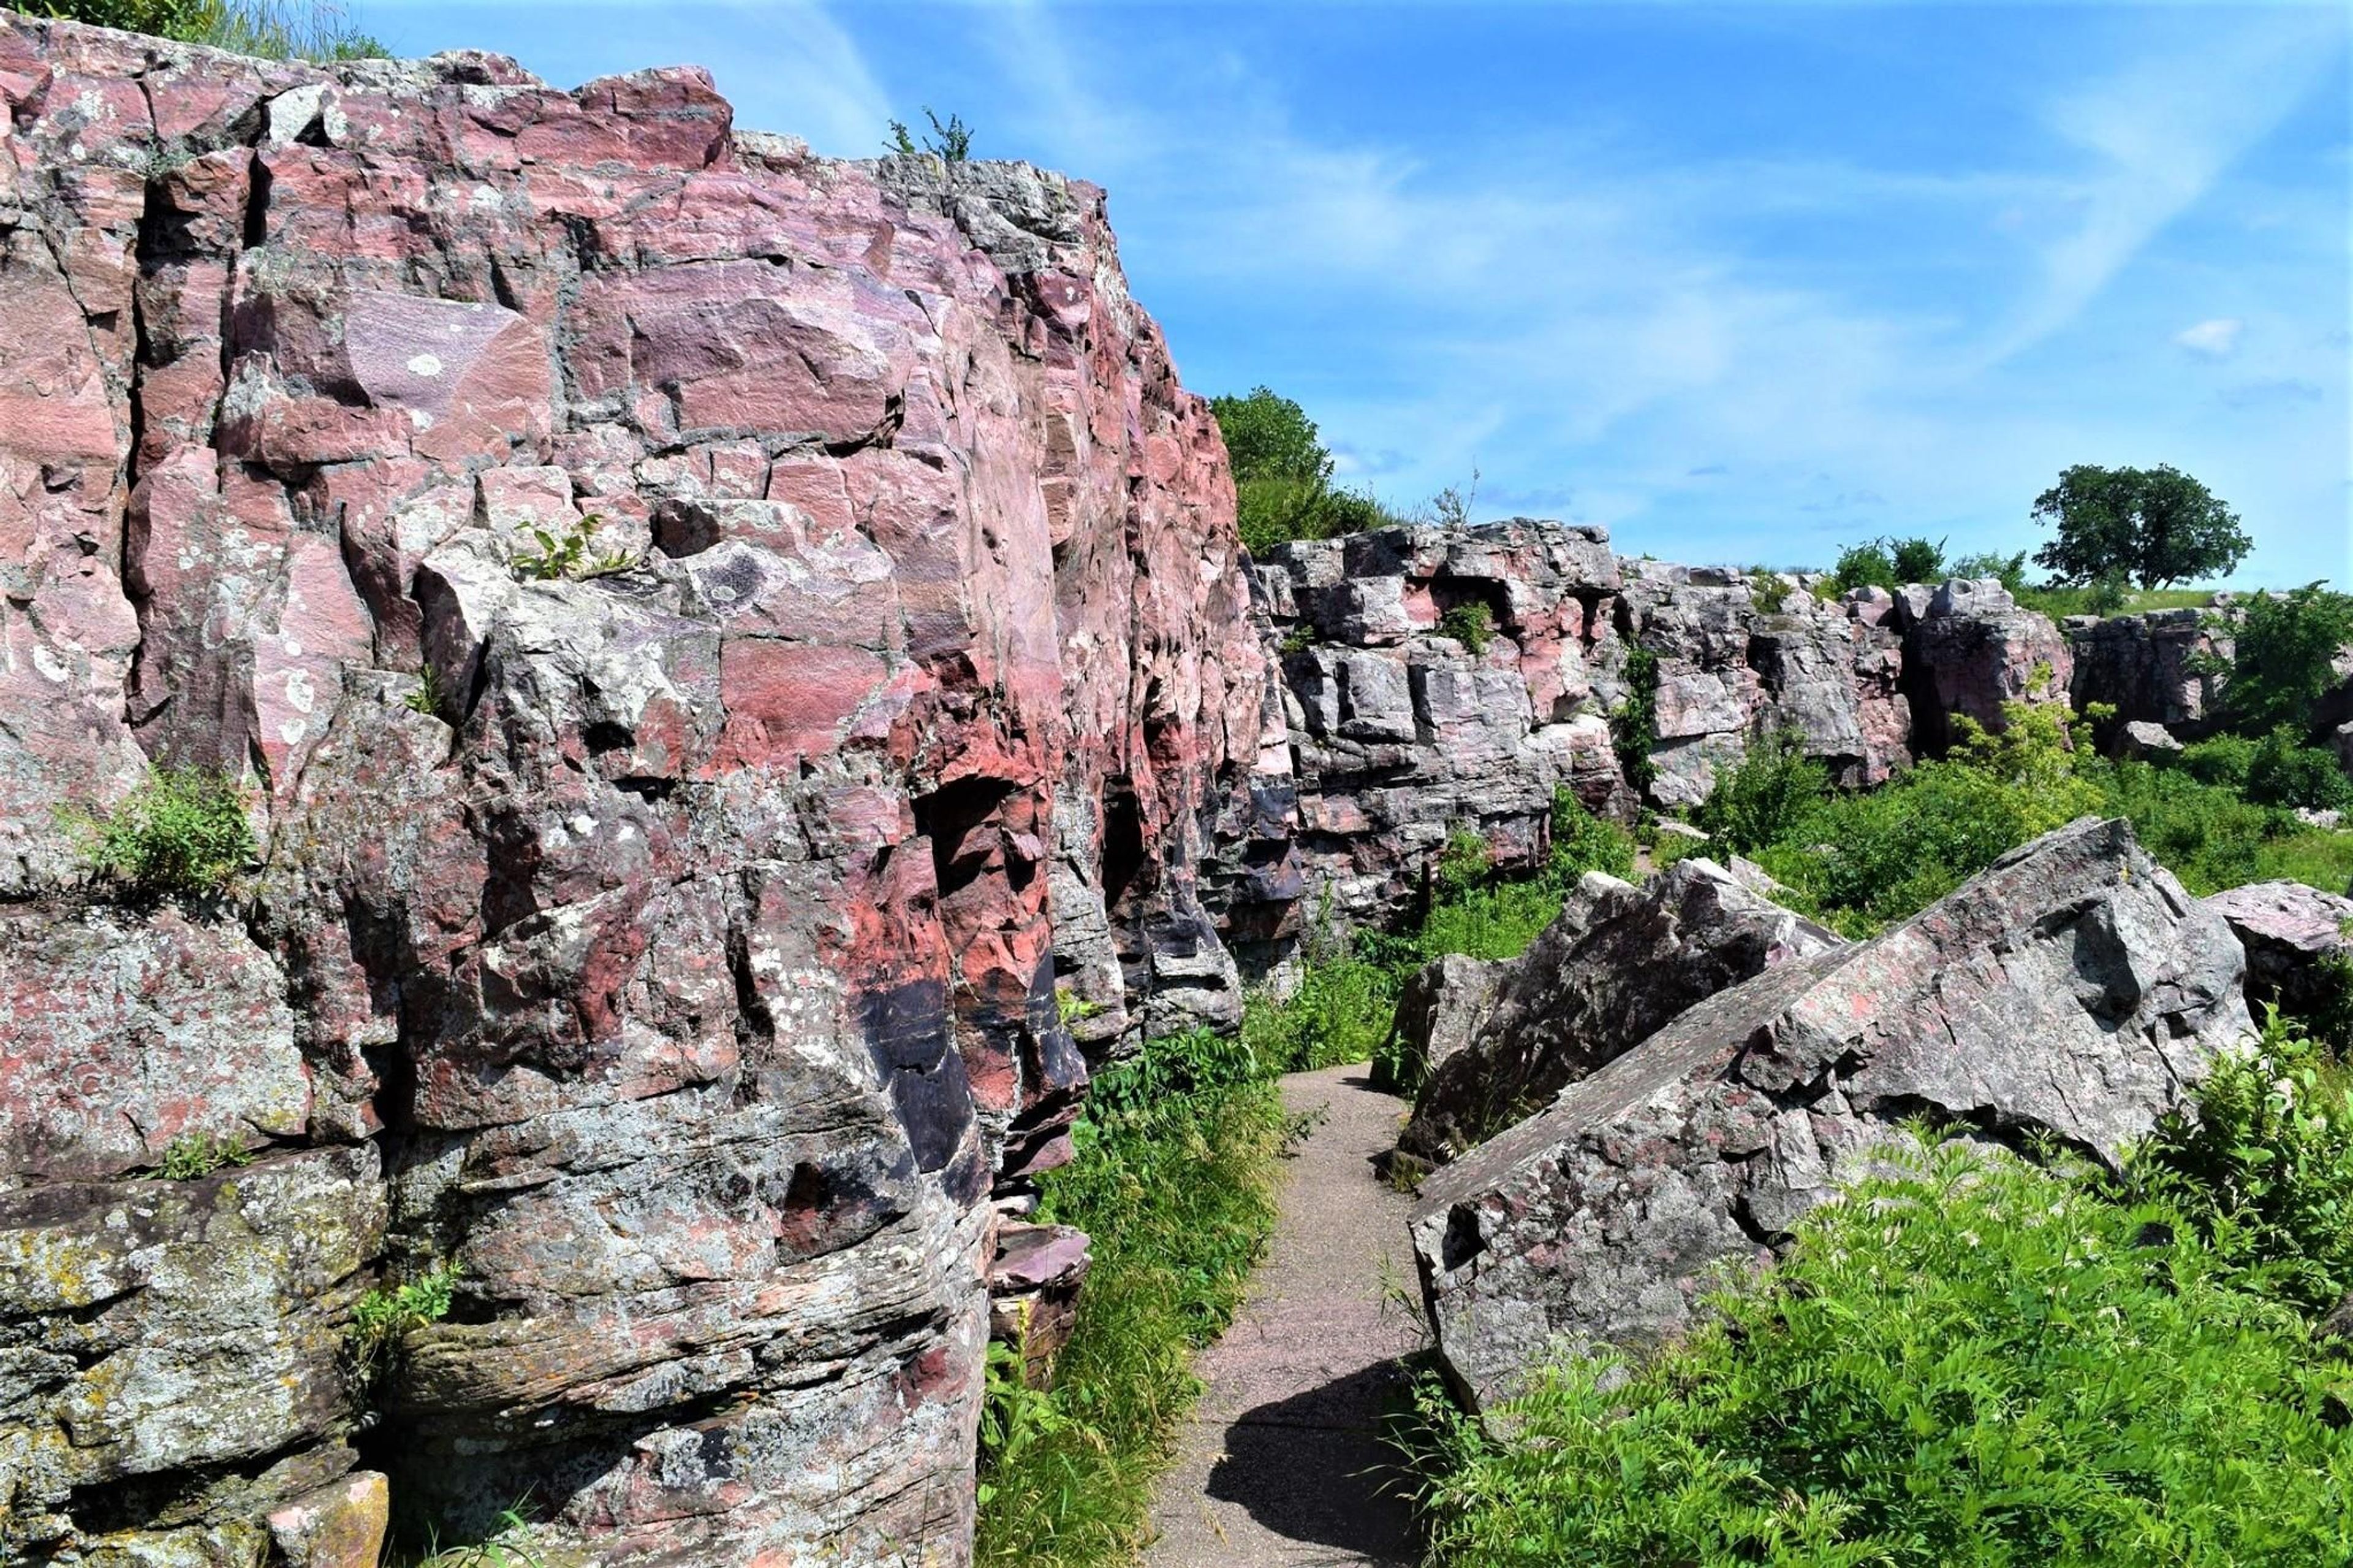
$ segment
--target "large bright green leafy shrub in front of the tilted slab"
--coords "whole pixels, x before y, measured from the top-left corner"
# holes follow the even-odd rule
[[[1431,1401],[1433,1561],[2348,1561],[2332,1375],[2195,1227],[1969,1144],[1887,1165],[1680,1347],[1487,1427]]]

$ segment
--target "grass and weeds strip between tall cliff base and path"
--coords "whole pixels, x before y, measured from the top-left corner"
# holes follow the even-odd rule
[[[1184,1064],[1155,1064],[1162,1052]],[[1198,1041],[1153,1041],[1134,1071],[1219,1078],[1214,1062],[1233,1062],[1202,1055]],[[1264,1078],[1118,1107],[1089,1097],[1071,1135],[1075,1158],[1040,1177],[1038,1217],[1085,1229],[1094,1264],[1049,1403],[998,1403],[984,1431],[979,1563],[1132,1561],[1153,1476],[1200,1391],[1193,1351],[1240,1307],[1273,1234],[1275,1170],[1294,1132]]]

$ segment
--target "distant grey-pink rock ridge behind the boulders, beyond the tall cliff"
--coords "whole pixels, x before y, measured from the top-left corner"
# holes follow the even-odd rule
[[[2068,643],[1995,582],[1828,603],[1819,582],[1527,518],[1278,546],[1259,586],[1318,906],[1395,918],[1454,829],[1501,864],[1539,857],[1555,786],[1617,817],[1697,805],[1774,730],[1878,784],[1948,746],[1958,713],[2000,727],[2005,702],[2066,699]],[[1449,636],[1471,624],[1485,645]]]

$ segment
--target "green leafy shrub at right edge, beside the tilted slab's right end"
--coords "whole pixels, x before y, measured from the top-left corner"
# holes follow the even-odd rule
[[[2137,1189],[2174,1203],[2254,1288],[2308,1314],[2353,1290],[2353,1092],[2271,1008],[2224,1052],[2195,1116],[2167,1116],[2137,1154]]]

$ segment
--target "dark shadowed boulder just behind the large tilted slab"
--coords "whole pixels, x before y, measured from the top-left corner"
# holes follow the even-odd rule
[[[1838,944],[1713,859],[1678,859],[1640,888],[1593,871],[1525,954],[1457,979],[1457,1001],[1400,1003],[1400,1034],[1424,1019],[1449,1026],[1402,1041],[1407,1052],[1424,1045],[1428,1081],[1398,1147],[1449,1161],[1692,1003]],[[1480,986],[1485,1001],[1471,1003]]]

